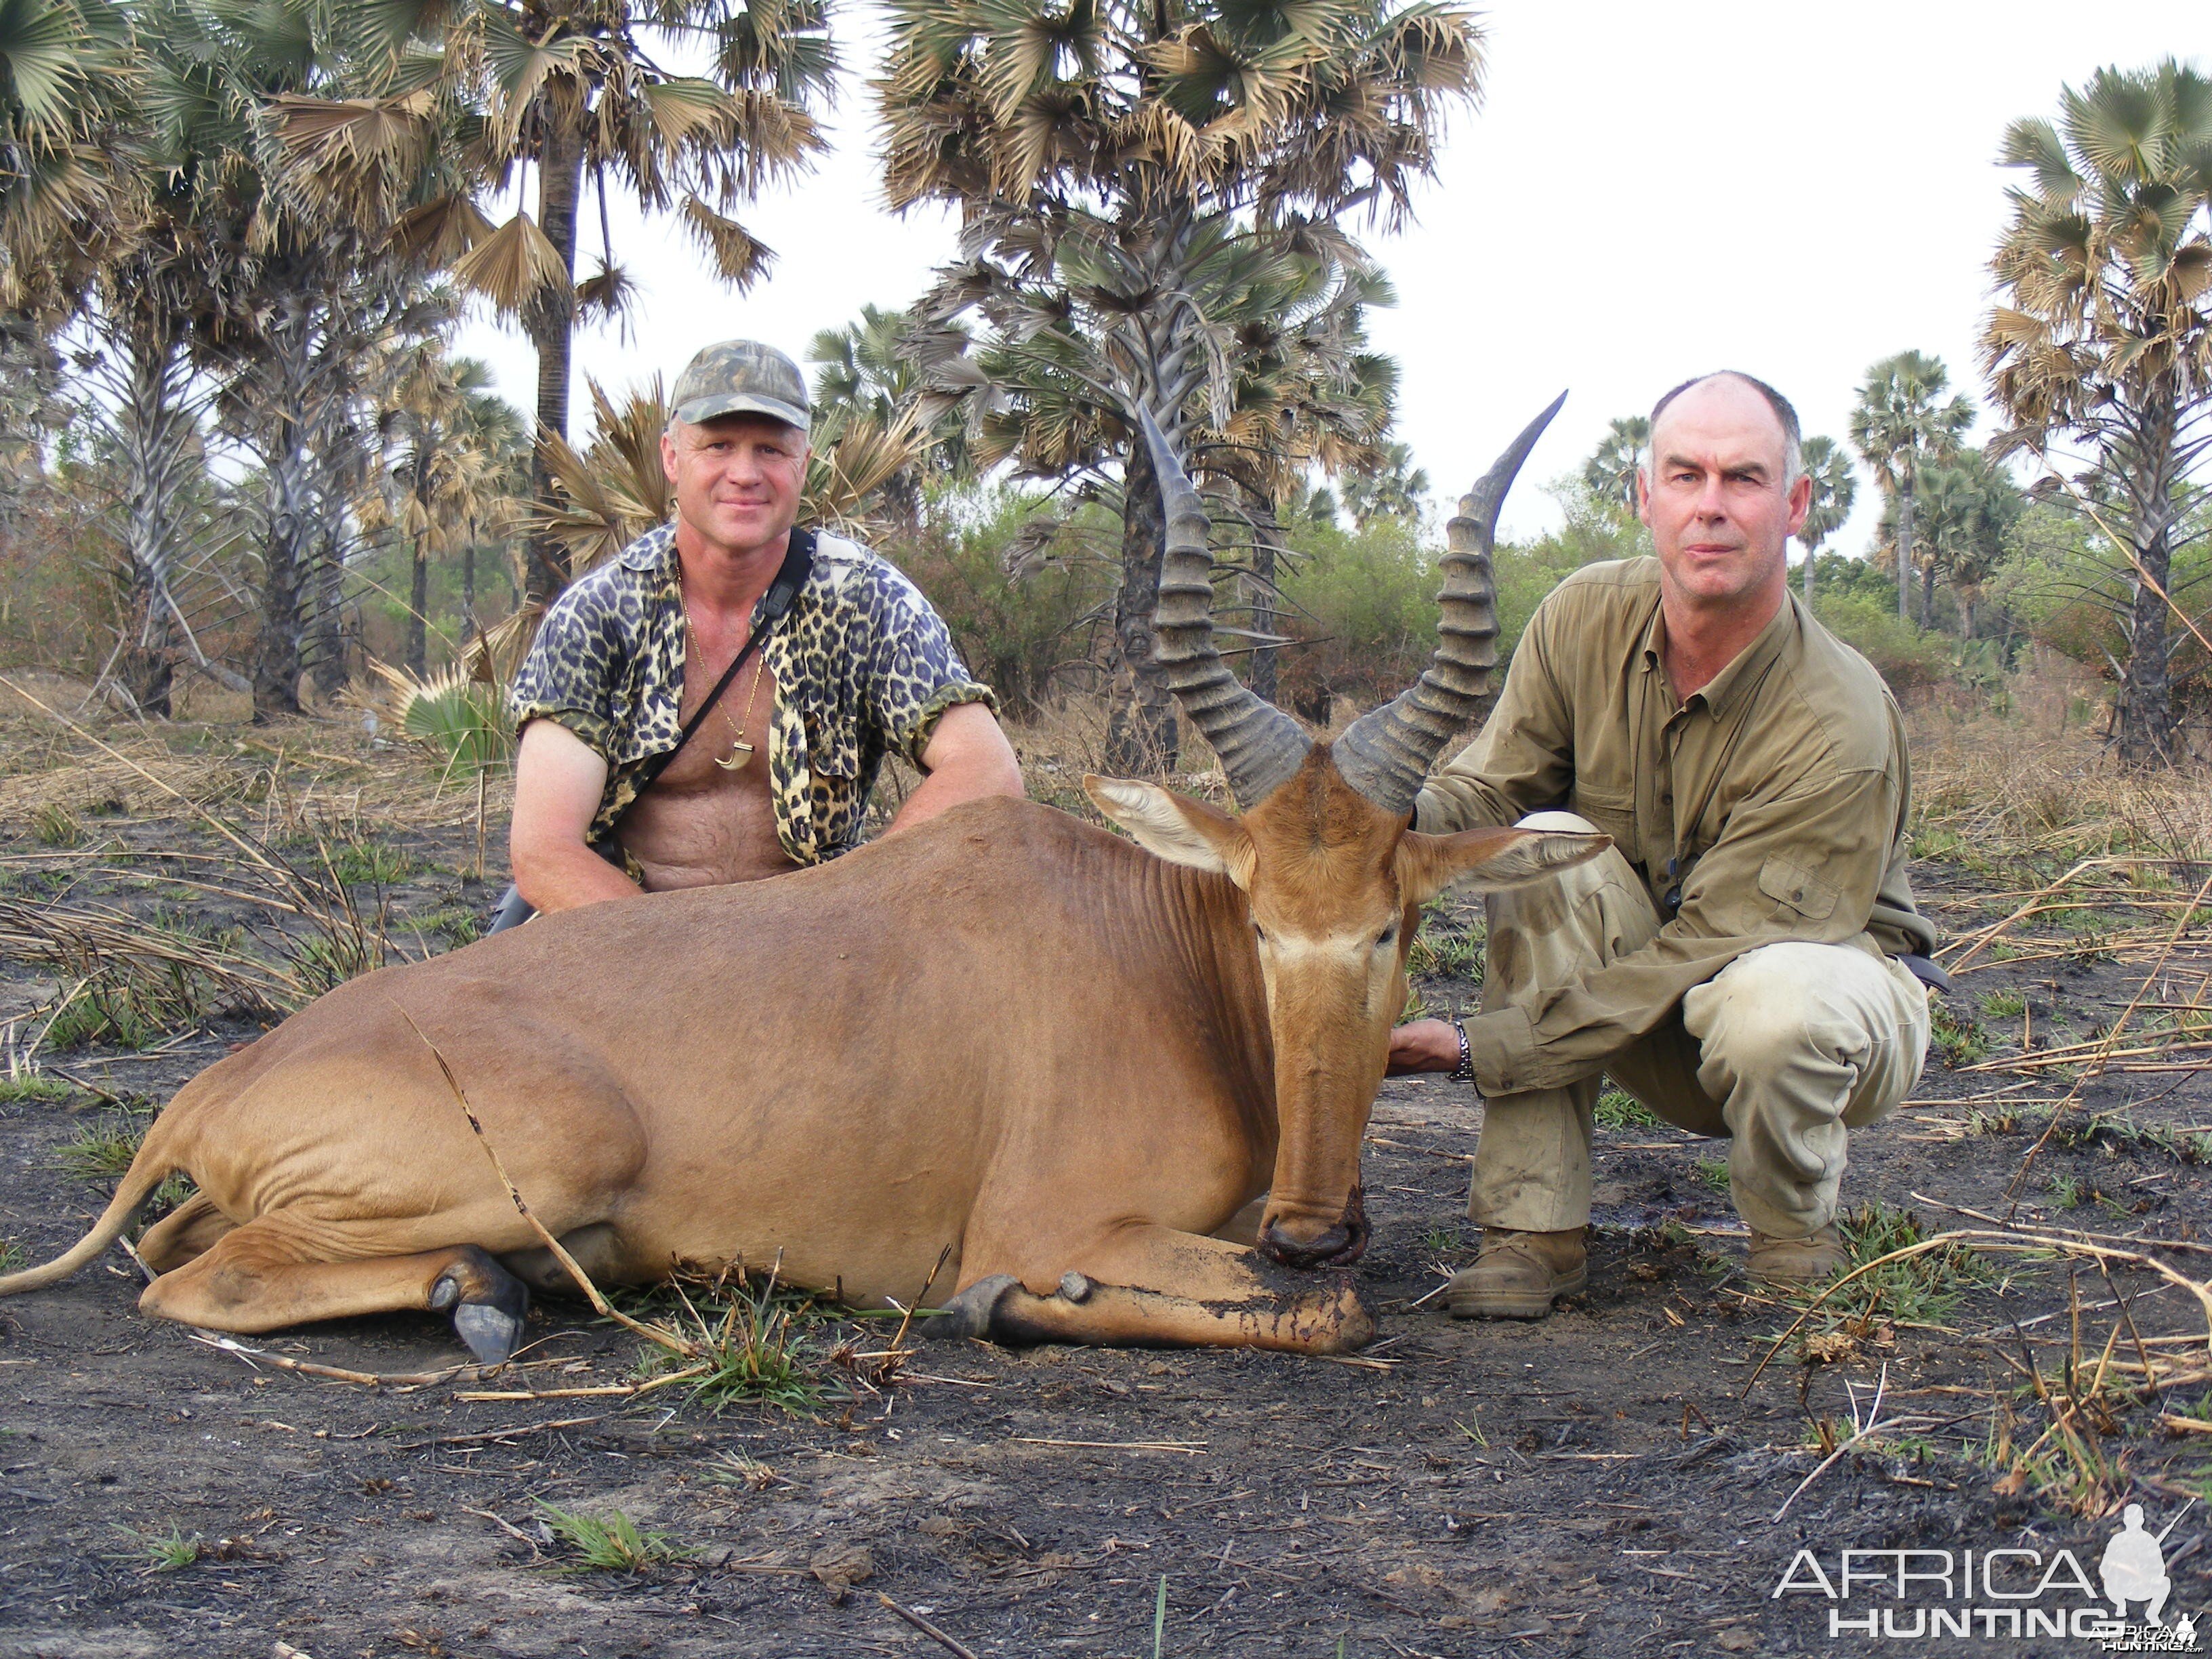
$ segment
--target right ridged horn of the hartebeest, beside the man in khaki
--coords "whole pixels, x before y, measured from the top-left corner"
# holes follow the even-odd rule
[[[1526,425],[1482,482],[1460,498],[1460,515],[1444,526],[1444,591],[1436,595],[1436,653],[1407,690],[1360,714],[1329,750],[1345,783],[1385,812],[1411,812],[1429,765],[1451,734],[1471,721],[1491,695],[1498,668],[1498,593],[1491,553],[1498,549],[1498,507],[1535,440],[1566,403],[1562,392]]]

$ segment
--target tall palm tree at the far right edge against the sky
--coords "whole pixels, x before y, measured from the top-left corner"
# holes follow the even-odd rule
[[[2099,69],[2057,122],[2013,122],[2002,161],[2028,184],[1991,261],[1982,358],[2013,422],[1993,447],[2066,458],[2099,504],[2126,560],[2119,757],[2172,765],[2168,584],[2212,456],[2212,80],[2172,58]]]

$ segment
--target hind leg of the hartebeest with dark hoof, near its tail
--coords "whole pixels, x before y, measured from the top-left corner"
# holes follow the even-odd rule
[[[529,1292],[478,1245],[327,1261],[312,1232],[283,1214],[248,1221],[146,1285],[139,1312],[241,1334],[403,1307],[451,1312],[480,1365],[504,1365],[522,1340]]]

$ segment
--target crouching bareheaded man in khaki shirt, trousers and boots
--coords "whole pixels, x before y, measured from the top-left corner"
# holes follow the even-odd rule
[[[1416,805],[1429,832],[1595,825],[1615,843],[1491,896],[1482,1013],[1391,1042],[1394,1071],[1453,1071],[1484,1099],[1462,1318],[1540,1318],[1586,1283],[1599,1073],[1730,1137],[1756,1276],[1825,1279],[1845,1130],[1893,1110],[1927,1051],[1927,991],[1900,960],[1936,945],[1905,878],[1905,730],[1865,657],[1790,593],[1812,495],[1796,411],[1705,376],[1659,400],[1650,460],[1657,557],[1544,599],[1482,737]]]

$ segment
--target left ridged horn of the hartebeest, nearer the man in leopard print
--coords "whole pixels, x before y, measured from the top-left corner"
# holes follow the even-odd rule
[[[1159,566],[1159,666],[1175,701],[1214,745],[1237,805],[1256,807],[1305,763],[1314,741],[1281,708],[1245,688],[1214,650],[1214,555],[1206,509],[1150,409],[1139,409],[1144,442],[1159,478],[1168,546]]]

